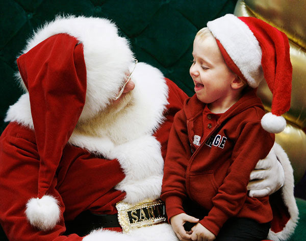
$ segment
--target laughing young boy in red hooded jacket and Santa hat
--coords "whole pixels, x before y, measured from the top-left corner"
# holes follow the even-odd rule
[[[272,133],[286,126],[288,38],[253,17],[227,14],[207,25],[194,39],[196,94],[174,118],[161,198],[181,240],[262,240],[272,220],[269,197],[249,197],[247,183],[272,148]],[[273,93],[266,115],[256,96],[263,78]],[[186,222],[195,224],[191,231]]]

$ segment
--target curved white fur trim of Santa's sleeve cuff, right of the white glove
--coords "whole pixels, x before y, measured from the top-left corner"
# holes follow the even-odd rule
[[[270,230],[268,238],[276,241],[282,241],[287,240],[294,232],[294,229],[298,222],[298,208],[293,195],[294,178],[290,160],[283,148],[277,143],[274,144],[273,149],[277,156],[277,159],[279,160],[279,162],[281,162],[285,172],[285,183],[282,188],[282,197],[285,205],[288,208],[290,219],[281,232],[274,233]]]

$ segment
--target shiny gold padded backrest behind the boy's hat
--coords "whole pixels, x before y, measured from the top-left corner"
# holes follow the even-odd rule
[[[291,108],[284,117],[287,126],[275,140],[289,156],[297,183],[306,170],[306,3],[300,0],[239,0],[234,14],[262,19],[289,38],[293,66]],[[272,93],[266,82],[258,89],[266,111],[271,110]],[[264,141],[264,140],[263,140]]]

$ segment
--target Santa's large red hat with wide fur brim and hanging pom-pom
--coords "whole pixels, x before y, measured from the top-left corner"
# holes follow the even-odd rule
[[[29,92],[39,154],[38,193],[25,209],[40,230],[61,218],[55,174],[62,152],[79,120],[106,108],[133,65],[133,52],[114,23],[93,17],[58,17],[28,41],[17,59],[19,77]]]

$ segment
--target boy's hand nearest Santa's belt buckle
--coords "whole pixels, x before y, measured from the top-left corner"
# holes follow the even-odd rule
[[[191,240],[190,232],[187,232],[183,225],[186,222],[197,223],[198,221],[198,219],[189,216],[186,213],[180,213],[170,219],[173,231],[175,232],[176,236],[182,241]]]

